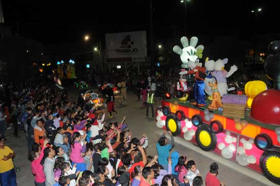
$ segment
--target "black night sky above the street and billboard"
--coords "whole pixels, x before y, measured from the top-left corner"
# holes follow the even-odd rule
[[[183,29],[184,4],[180,0],[153,0],[154,36],[172,37]],[[187,33],[190,35],[236,35],[253,33],[255,13],[257,30],[279,33],[276,1],[190,0],[187,3]],[[142,31],[149,33],[149,1],[13,1],[2,0],[5,23],[21,36],[43,44],[77,42],[86,33],[104,37],[105,33]],[[277,16],[276,16],[277,15]]]

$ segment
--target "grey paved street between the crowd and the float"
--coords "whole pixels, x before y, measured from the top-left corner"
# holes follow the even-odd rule
[[[71,91],[69,94],[74,97],[76,91]],[[155,119],[146,118],[146,108],[141,108],[142,102],[136,101],[135,94],[128,94],[128,105],[120,106],[118,104],[118,98],[116,98],[116,111],[118,114],[114,115],[112,119],[106,117],[106,122],[121,121],[121,118],[126,115],[126,123],[132,130],[132,135],[140,138],[143,133],[147,134],[149,138],[149,147],[147,149],[148,155],[156,154],[156,142],[159,136],[162,134],[162,129],[158,128],[155,123]],[[76,98],[74,98],[76,101]],[[160,100],[156,99],[156,104],[160,104]],[[25,134],[20,131],[21,138],[15,139],[12,136],[12,130],[6,131],[8,141],[6,145],[11,147],[16,157],[14,161],[17,166],[20,167],[20,172],[17,173],[17,183],[19,186],[31,186],[34,185],[34,176],[31,172],[31,163],[27,160],[27,143],[25,140]],[[213,162],[219,164],[219,179],[226,182],[226,185],[246,185],[246,186],[258,186],[258,185],[275,185],[266,179],[263,175],[250,170],[246,167],[242,167],[236,163],[233,163],[221,156],[218,156],[212,152],[202,151],[199,147],[187,142],[186,140],[175,137],[175,147],[172,151],[179,151],[180,155],[186,155],[188,160],[194,160],[197,164],[197,168],[205,180],[205,176],[209,171],[209,166]],[[204,184],[205,185],[205,184]]]

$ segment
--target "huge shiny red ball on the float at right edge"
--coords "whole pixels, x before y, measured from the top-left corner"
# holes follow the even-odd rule
[[[250,116],[260,122],[280,125],[280,91],[266,90],[252,103]]]

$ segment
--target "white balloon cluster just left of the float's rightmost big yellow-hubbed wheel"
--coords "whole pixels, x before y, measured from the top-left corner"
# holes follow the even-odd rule
[[[237,162],[242,166],[247,166],[249,164],[255,164],[257,162],[254,155],[247,155],[245,150],[250,150],[253,148],[254,139],[249,139],[248,141],[244,138],[241,138],[240,142],[243,144],[243,147],[240,146],[237,148]]]

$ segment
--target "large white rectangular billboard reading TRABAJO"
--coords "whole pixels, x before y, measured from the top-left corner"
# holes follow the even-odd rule
[[[146,31],[105,34],[107,62],[147,61]]]

